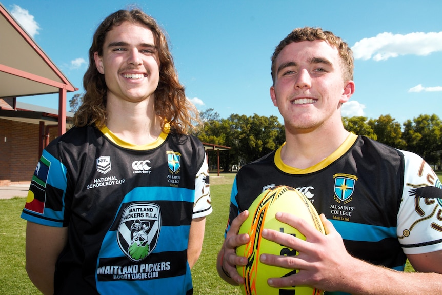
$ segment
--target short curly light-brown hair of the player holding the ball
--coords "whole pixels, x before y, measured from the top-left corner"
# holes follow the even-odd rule
[[[275,51],[271,57],[272,61],[272,80],[275,84],[276,79],[276,58],[279,53],[292,42],[302,42],[302,41],[315,41],[324,40],[330,46],[335,47],[338,50],[341,64],[343,65],[343,78],[344,81],[353,80],[353,51],[350,49],[348,44],[344,42],[340,37],[334,35],[330,31],[324,31],[321,28],[296,28],[290,34],[285,37],[278,46],[276,46]]]

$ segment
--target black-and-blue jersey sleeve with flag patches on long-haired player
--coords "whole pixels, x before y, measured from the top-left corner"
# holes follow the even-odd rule
[[[66,187],[65,165],[48,150],[43,150],[21,217],[47,226],[67,226],[64,207]]]

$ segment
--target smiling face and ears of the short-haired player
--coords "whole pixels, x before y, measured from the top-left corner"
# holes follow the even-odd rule
[[[336,48],[322,40],[292,42],[279,53],[275,71],[270,96],[288,131],[342,125],[340,105],[354,83],[344,81]]]

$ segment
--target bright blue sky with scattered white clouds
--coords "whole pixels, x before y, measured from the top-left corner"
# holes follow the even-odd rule
[[[270,56],[292,29],[322,27],[354,50],[356,92],[343,115],[399,123],[420,114],[442,118],[442,1],[45,1],[0,0],[79,88],[97,25],[135,4],[167,31],[180,81],[199,110],[276,115]],[[3,42],[3,41],[2,41]],[[19,102],[57,108],[57,95]],[[68,106],[69,108],[69,106]]]

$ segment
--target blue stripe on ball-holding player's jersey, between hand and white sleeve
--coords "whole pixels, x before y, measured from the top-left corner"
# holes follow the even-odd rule
[[[379,242],[385,238],[397,238],[396,227],[376,226],[333,219],[330,221],[344,240]]]

